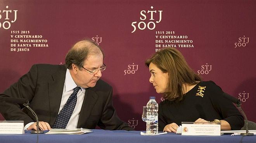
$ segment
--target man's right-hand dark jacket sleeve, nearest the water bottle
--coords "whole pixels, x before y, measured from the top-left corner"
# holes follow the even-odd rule
[[[98,126],[104,130],[134,130],[117,116],[116,110],[112,106],[112,88],[108,93]]]

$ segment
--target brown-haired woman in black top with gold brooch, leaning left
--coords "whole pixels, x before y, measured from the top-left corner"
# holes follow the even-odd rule
[[[201,81],[175,48],[156,52],[145,62],[157,93],[164,94],[159,104],[159,131],[175,132],[182,121],[220,122],[221,130],[240,130],[244,118],[222,89],[213,81]]]

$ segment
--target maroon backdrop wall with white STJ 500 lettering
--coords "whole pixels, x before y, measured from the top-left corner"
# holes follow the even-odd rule
[[[149,96],[163,98],[144,61],[169,46],[204,81],[239,98],[255,122],[255,7],[255,0],[0,0],[0,92],[33,64],[64,64],[88,37],[106,53],[102,79],[113,87],[119,117],[145,130],[142,106]]]

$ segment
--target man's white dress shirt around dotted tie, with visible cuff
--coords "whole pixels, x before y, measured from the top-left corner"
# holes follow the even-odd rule
[[[63,86],[63,91],[62,91],[61,106],[59,108],[59,113],[61,112],[61,109],[66,104],[67,99],[69,98],[69,96],[73,93],[73,89],[76,86],[77,85],[74,82],[74,80],[72,79],[69,69],[67,69],[66,77],[65,77],[65,82],[64,82],[64,86]],[[66,129],[77,128],[77,123],[78,123],[80,111],[81,111],[81,108],[82,108],[83,99],[85,98],[85,88],[81,87],[81,89],[82,90],[79,90],[78,93],[77,93],[76,106],[74,108],[74,111],[73,111],[73,113],[72,113],[68,123],[67,123]],[[26,124],[24,129],[26,130],[33,123],[34,122]]]

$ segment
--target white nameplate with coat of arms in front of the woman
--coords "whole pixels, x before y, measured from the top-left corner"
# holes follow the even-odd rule
[[[182,135],[220,136],[220,123],[182,122]]]

